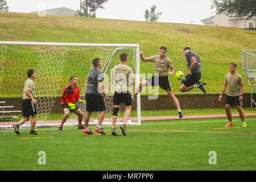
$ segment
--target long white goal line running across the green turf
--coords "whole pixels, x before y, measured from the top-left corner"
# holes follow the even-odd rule
[[[238,121],[238,122],[241,122],[240,119],[237,119],[237,120],[233,120],[233,121]],[[256,119],[246,119],[246,121],[256,121]],[[195,121],[195,122],[177,122],[177,123],[155,123],[155,124],[144,124],[144,125],[133,125],[134,127],[135,126],[155,126],[155,125],[181,125],[181,124],[197,124],[197,123],[213,123],[213,122],[228,122],[227,120],[218,120],[218,121]],[[104,126],[105,128],[106,127],[112,127],[112,126]],[[74,127],[69,127],[69,128],[77,128],[77,126],[74,126]],[[57,130],[58,128],[56,127],[55,129],[36,129],[36,131],[44,131],[44,130]],[[2,129],[2,130],[6,130],[6,131],[0,131],[0,133],[3,133],[3,132],[13,132],[14,130],[13,129]],[[30,131],[30,129],[21,129],[20,131]]]

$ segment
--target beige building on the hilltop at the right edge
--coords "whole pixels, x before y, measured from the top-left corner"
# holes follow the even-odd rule
[[[250,19],[238,18],[236,15],[228,15],[226,13],[216,14],[208,18],[202,19],[207,26],[221,26],[233,28],[256,28],[256,17]]]

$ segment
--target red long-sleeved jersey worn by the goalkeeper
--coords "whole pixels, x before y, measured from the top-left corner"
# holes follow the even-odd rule
[[[78,100],[80,100],[79,88],[77,86],[75,86],[75,88],[73,90],[71,84],[66,86],[63,90],[61,104],[68,104],[68,103],[75,104],[75,102]]]

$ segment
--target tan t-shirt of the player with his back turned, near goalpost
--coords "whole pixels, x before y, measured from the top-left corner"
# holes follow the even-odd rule
[[[115,91],[129,91],[129,81],[134,78],[133,69],[126,64],[116,65],[111,72]]]

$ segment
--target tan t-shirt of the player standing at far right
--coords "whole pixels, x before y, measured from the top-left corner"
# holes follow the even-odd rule
[[[243,78],[238,73],[231,75],[228,73],[225,75],[224,83],[228,84],[228,96],[240,96],[241,84],[243,84]]]

